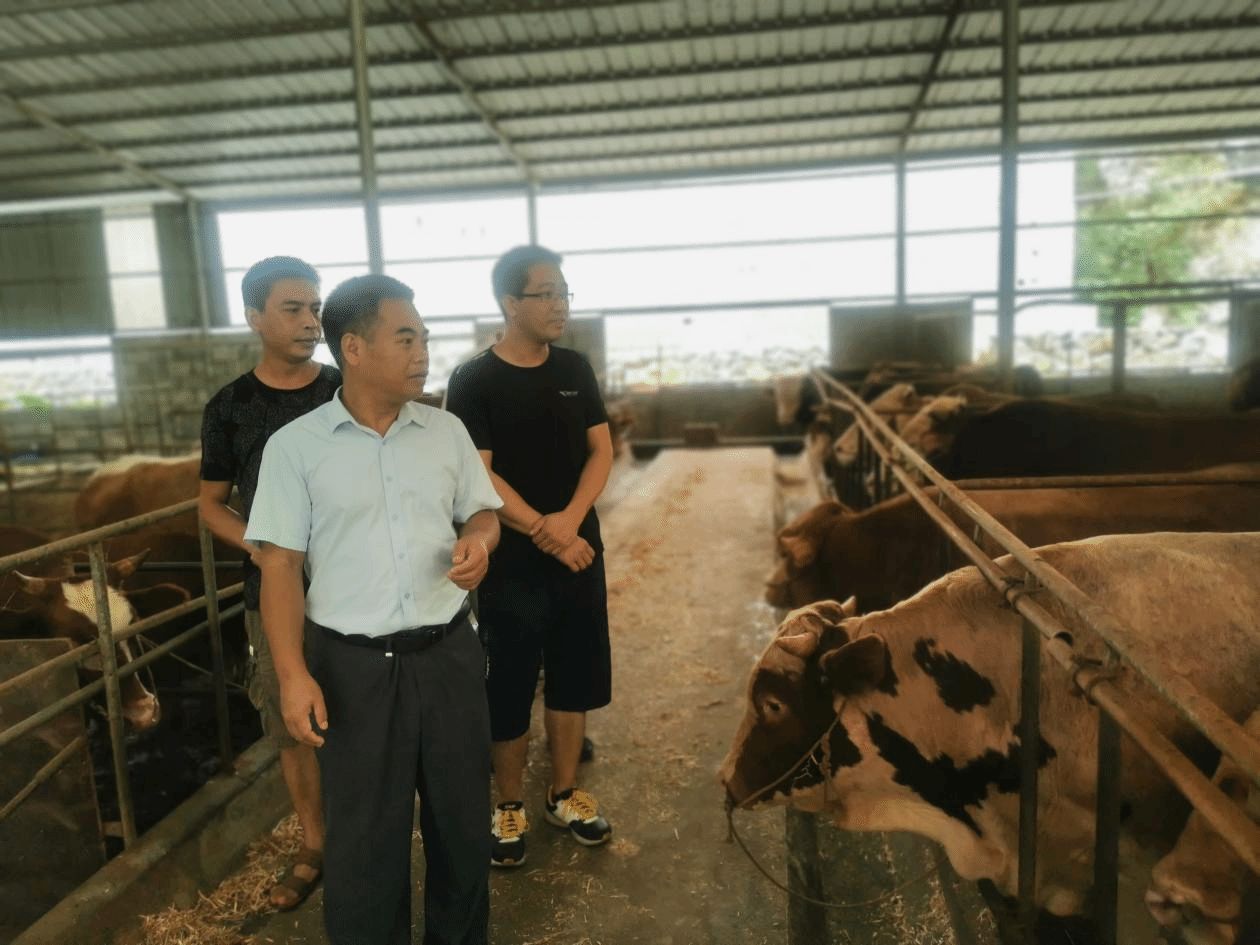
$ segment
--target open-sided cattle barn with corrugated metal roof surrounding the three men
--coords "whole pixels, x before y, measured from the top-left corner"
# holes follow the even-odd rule
[[[0,0],[0,945],[324,941],[195,503],[241,277],[402,280],[441,408],[525,243],[614,834],[493,941],[1260,941],[1257,89],[1244,0]]]

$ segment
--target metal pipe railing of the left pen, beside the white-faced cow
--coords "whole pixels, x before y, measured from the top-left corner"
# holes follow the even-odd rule
[[[212,674],[214,680],[215,718],[218,722],[218,752],[222,766],[226,769],[232,764],[232,741],[228,718],[227,677],[223,658],[223,639],[220,634],[222,621],[239,614],[243,604],[236,604],[224,610],[219,605],[228,597],[241,593],[243,583],[234,583],[219,590],[215,580],[215,563],[213,539],[205,523],[198,519],[198,532],[200,542],[200,568],[204,581],[205,593],[202,597],[180,604],[164,610],[152,616],[137,620],[126,627],[115,630],[108,606],[108,581],[105,543],[111,538],[135,532],[147,525],[158,524],[178,515],[184,515],[197,510],[197,499],[170,505],[164,509],[149,512],[135,518],[118,522],[91,532],[63,538],[60,541],[43,544],[30,551],[19,552],[0,558],[0,577],[10,571],[15,571],[28,564],[43,561],[49,557],[66,554],[68,552],[87,549],[92,572],[92,590],[96,602],[97,639],[94,643],[74,646],[68,653],[63,653],[53,659],[45,660],[24,673],[0,683],[0,699],[18,688],[37,683],[66,665],[84,668],[87,662],[98,658],[102,675],[100,679],[86,683],[69,696],[66,696],[52,704],[45,706],[32,716],[18,721],[8,728],[0,730],[0,748],[15,742],[25,735],[40,728],[47,722],[62,714],[67,709],[86,703],[102,690],[105,692],[110,745],[113,755],[115,785],[118,800],[118,813],[122,823],[122,840],[126,847],[135,843],[137,838],[135,805],[131,799],[131,782],[127,775],[127,753],[123,738],[122,693],[121,680],[135,675],[145,667],[194,640],[202,634],[209,635]],[[205,610],[205,620],[192,626],[170,640],[166,640],[142,655],[136,655],[126,663],[117,665],[116,646],[131,640],[154,627],[161,626],[171,620],[186,616],[199,610]],[[94,672],[94,668],[93,668]],[[81,740],[66,746],[54,759],[45,764],[34,777],[21,788],[18,794],[0,806],[0,820],[13,814],[14,810],[44,781],[49,780],[55,771],[64,765],[77,750]]]

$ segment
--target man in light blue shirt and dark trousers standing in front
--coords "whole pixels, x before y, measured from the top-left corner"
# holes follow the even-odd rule
[[[425,942],[488,936],[490,728],[467,592],[503,503],[464,425],[415,403],[428,348],[412,297],[388,276],[328,296],[344,384],[267,442],[244,536],[285,724],[319,748],[330,945],[410,945],[417,790]]]

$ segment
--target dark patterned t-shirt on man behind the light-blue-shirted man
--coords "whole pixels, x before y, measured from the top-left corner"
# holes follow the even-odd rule
[[[202,479],[234,483],[249,518],[258,488],[262,447],[280,427],[328,403],[341,386],[341,372],[324,364],[306,387],[267,387],[251,370],[219,391],[202,415]],[[244,606],[258,609],[261,575],[244,559]]]

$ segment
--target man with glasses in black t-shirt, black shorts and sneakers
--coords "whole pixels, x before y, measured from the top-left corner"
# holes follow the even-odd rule
[[[494,866],[525,858],[523,781],[529,713],[543,678],[552,781],[544,819],[578,843],[611,828],[577,789],[586,712],[612,696],[604,544],[595,500],[612,469],[607,416],[591,365],[556,341],[568,320],[561,257],[522,246],[494,266],[503,338],[451,375],[446,407],[464,421],[503,499],[503,537],[478,588],[490,655],[486,694],[499,795]]]

